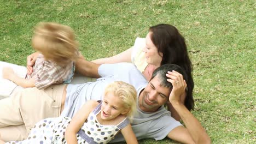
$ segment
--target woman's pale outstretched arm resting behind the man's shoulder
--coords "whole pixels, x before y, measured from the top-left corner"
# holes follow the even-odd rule
[[[132,47],[128,50],[125,50],[125,51],[115,55],[115,56],[95,59],[94,61],[91,61],[91,62],[94,62],[97,64],[120,63],[120,62],[131,63],[131,52],[132,52]]]

